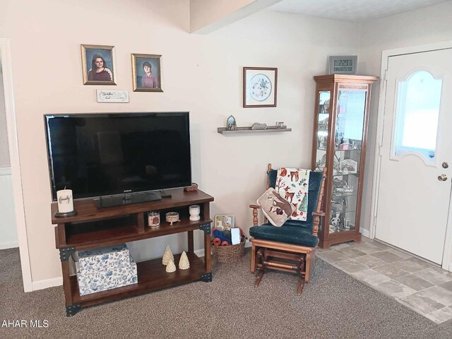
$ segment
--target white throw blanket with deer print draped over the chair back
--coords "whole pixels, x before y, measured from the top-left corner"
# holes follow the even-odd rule
[[[282,167],[276,177],[276,191],[295,206],[289,219],[306,221],[310,169]]]

